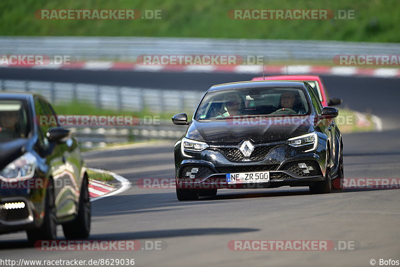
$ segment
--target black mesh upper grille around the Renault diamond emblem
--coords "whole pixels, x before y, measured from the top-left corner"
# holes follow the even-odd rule
[[[263,160],[269,153],[269,151],[276,148],[277,146],[280,145],[256,146],[254,147],[254,150],[249,157],[244,157],[237,147],[218,147],[216,149],[221,151],[223,155],[230,161],[241,162]]]

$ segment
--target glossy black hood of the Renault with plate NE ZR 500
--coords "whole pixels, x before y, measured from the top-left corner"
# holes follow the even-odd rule
[[[311,116],[286,116],[264,119],[192,121],[186,137],[205,142],[239,143],[243,139],[268,142],[312,132]]]

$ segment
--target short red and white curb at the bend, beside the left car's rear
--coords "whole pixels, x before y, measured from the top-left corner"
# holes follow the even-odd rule
[[[130,187],[130,182],[126,178],[124,178],[118,174],[115,174],[110,171],[101,170],[101,169],[93,169],[93,168],[88,168],[88,169],[95,171],[95,172],[107,173],[107,174],[113,176],[114,179],[117,180],[118,182],[120,182],[120,184],[121,184],[121,186],[119,188],[115,188],[106,182],[101,182],[101,181],[97,181],[97,180],[89,180],[88,190],[89,190],[90,202],[107,197],[107,196],[122,193],[123,191],[125,191],[126,189],[128,189]]]

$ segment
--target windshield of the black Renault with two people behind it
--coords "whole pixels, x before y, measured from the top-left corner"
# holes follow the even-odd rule
[[[195,120],[224,119],[232,116],[286,116],[309,113],[303,89],[246,88],[208,92],[201,101]]]

